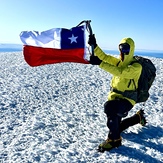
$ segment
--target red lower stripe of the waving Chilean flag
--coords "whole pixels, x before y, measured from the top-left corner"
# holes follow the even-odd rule
[[[32,67],[61,62],[89,64],[83,58],[83,48],[65,50],[25,45],[23,53],[25,61]]]

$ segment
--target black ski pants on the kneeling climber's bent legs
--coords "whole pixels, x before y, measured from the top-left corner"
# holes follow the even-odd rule
[[[119,139],[123,130],[140,122],[137,114],[122,121],[122,118],[127,116],[132,107],[133,105],[126,99],[115,99],[104,104],[107,127],[109,128],[108,138]]]

